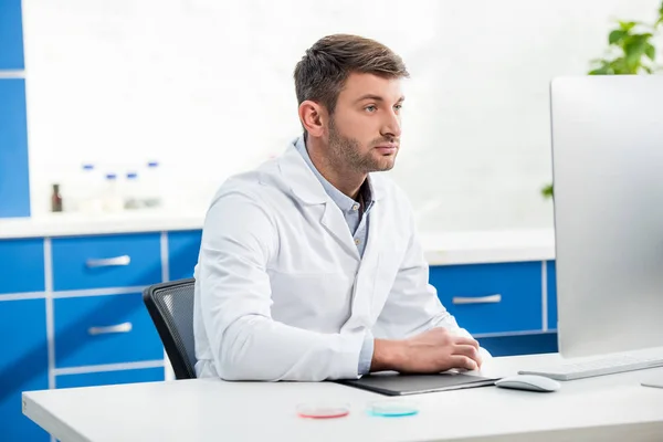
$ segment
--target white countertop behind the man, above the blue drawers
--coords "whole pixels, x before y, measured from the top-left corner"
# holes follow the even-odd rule
[[[114,214],[53,213],[0,219],[0,240],[133,232],[199,230],[204,211],[141,210]],[[431,265],[472,264],[555,259],[552,229],[422,233]]]

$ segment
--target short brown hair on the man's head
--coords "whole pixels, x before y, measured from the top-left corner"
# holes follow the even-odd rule
[[[311,46],[295,67],[297,103],[311,99],[333,114],[338,94],[354,72],[387,78],[410,76],[402,59],[375,40],[348,34],[327,35]]]

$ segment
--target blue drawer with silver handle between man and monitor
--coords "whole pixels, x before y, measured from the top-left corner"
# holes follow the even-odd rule
[[[472,334],[543,327],[540,262],[435,266],[430,282]]]

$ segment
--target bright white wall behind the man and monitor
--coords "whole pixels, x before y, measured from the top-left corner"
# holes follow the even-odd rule
[[[295,63],[350,32],[412,74],[390,175],[430,232],[551,227],[549,81],[586,73],[612,19],[653,21],[660,0],[23,3],[34,214],[82,162],[149,158],[173,204],[204,208],[298,134]]]

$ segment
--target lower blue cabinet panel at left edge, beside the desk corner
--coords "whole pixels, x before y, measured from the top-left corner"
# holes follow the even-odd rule
[[[0,440],[49,441],[22,413],[21,392],[49,388],[44,299],[0,301]]]

